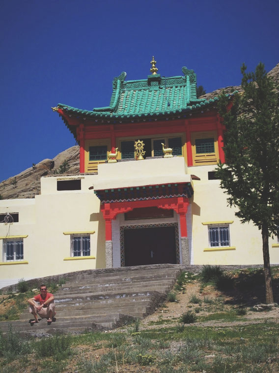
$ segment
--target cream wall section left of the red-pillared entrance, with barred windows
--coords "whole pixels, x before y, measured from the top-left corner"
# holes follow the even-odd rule
[[[42,194],[35,198],[0,201],[0,214],[19,213],[18,223],[0,224],[0,236],[28,235],[24,238],[22,262],[3,263],[0,240],[0,287],[21,278],[105,267],[104,219],[99,199],[88,189],[94,179],[95,175],[82,177],[82,190],[57,191],[56,177],[42,178]],[[70,235],[63,232],[95,232],[90,235],[90,257],[95,258],[64,260],[71,254]]]

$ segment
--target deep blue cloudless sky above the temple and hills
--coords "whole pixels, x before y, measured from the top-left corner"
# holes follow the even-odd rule
[[[278,62],[278,0],[2,0],[0,181],[75,145],[51,106],[107,106],[112,79],[194,69],[206,92]]]

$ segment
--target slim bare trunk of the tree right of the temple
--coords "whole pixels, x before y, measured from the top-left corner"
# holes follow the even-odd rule
[[[268,227],[266,223],[262,225],[262,251],[263,251],[263,268],[264,268],[264,280],[265,280],[265,299],[266,304],[273,303],[273,290],[269,260],[269,248],[268,248]]]

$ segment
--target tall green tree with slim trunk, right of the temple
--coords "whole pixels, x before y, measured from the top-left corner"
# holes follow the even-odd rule
[[[261,62],[255,72],[247,73],[245,64],[241,72],[244,92],[232,107],[224,94],[220,98],[226,163],[218,164],[217,177],[235,215],[261,230],[266,302],[272,303],[268,238],[279,225],[279,93]]]

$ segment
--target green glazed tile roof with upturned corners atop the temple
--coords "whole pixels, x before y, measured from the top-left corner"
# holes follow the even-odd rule
[[[57,106],[73,114],[96,119],[129,119],[178,114],[218,100],[218,97],[198,99],[194,70],[182,67],[182,71],[184,76],[165,77],[156,74],[148,75],[147,79],[128,81],[125,81],[126,73],[122,72],[113,79],[110,106],[91,111],[63,104]]]

